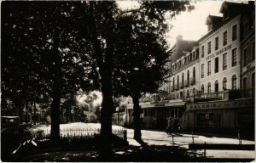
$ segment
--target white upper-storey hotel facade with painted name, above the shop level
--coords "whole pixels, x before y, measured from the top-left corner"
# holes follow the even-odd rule
[[[199,40],[201,93],[212,93],[240,87],[240,22],[241,16],[224,21],[207,17],[207,35]],[[214,25],[217,23],[218,25]]]

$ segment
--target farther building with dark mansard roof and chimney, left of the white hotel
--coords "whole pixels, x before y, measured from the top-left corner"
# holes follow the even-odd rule
[[[160,91],[172,93],[170,98],[183,98],[186,96],[183,91],[180,92],[177,90],[183,90],[183,87],[189,86],[187,79],[189,75],[185,76],[185,74],[192,73],[193,70],[189,71],[189,66],[193,65],[199,59],[198,49],[192,52],[192,49],[196,47],[198,47],[197,42],[183,40],[182,36],[177,36],[176,43],[170,50],[169,62],[166,63],[169,68],[169,74],[166,76],[166,82],[163,82],[162,87],[160,87]],[[185,69],[187,69],[185,73],[181,72]],[[181,73],[177,74],[178,72]]]

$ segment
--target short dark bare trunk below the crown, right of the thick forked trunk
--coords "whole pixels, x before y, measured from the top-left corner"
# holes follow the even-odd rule
[[[141,140],[142,139],[142,132],[141,132],[141,108],[139,105],[139,95],[138,93],[134,93],[132,95],[132,102],[133,102],[133,113],[134,113],[134,135],[133,138],[135,140]]]

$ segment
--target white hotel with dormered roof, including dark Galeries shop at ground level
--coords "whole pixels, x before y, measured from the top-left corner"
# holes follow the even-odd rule
[[[241,44],[241,18],[246,17],[247,9],[247,4],[224,2],[223,18],[207,17],[208,33],[199,40],[201,94],[186,105],[189,128],[248,132],[253,126],[254,98],[248,90],[241,90],[240,83],[240,63],[246,58],[241,48],[247,49]],[[250,39],[252,42],[254,37]],[[245,117],[249,119],[243,124]]]

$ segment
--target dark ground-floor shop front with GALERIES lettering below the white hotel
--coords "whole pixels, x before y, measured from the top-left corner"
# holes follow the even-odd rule
[[[188,127],[201,131],[252,132],[254,128],[254,99],[212,101],[186,104]]]

